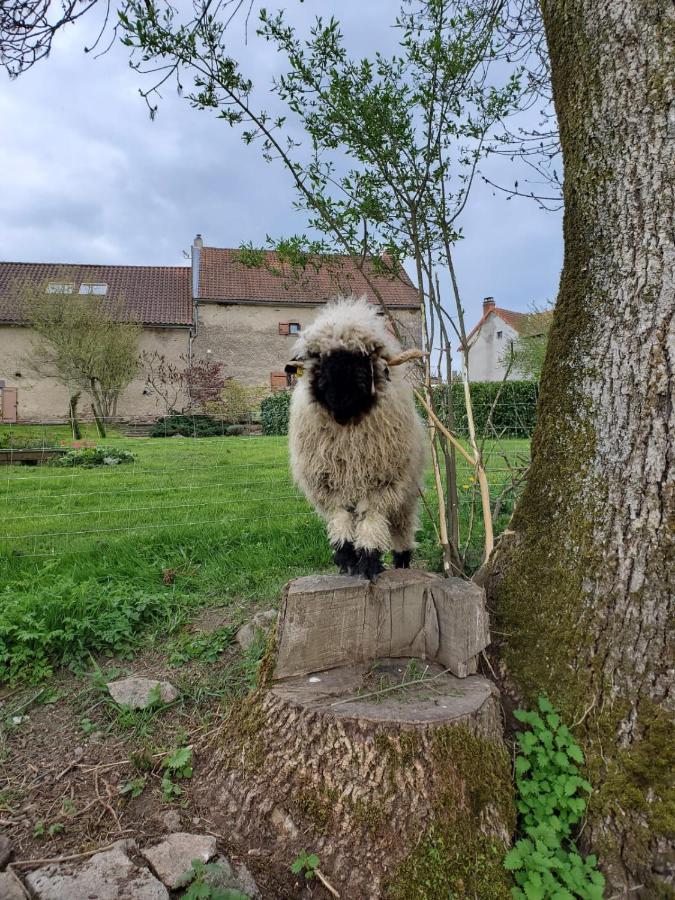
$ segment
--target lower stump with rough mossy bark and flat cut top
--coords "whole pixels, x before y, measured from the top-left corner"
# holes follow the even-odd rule
[[[509,900],[497,690],[437,663],[426,681],[382,687],[400,688],[408,663],[262,687],[226,723],[194,799],[269,871],[316,853],[344,900]]]

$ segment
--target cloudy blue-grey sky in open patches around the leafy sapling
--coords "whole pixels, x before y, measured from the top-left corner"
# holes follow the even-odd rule
[[[306,2],[294,15],[337,11],[350,48],[370,54],[392,46],[393,9],[391,0]],[[124,48],[100,59],[82,52],[97,15],[18,80],[0,72],[0,259],[181,265],[197,232],[207,245],[238,247],[302,231],[281,168],[171,88],[151,121]],[[267,82],[277,65],[270,46],[249,34],[242,51],[254,79]],[[492,165],[495,180],[518,177],[508,160]],[[456,257],[470,325],[487,295],[524,311],[555,297],[560,213],[477,183],[461,224]]]

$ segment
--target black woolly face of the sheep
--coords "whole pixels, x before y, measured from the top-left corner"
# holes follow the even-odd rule
[[[379,377],[366,353],[335,350],[312,367],[314,399],[339,425],[357,422],[377,403]]]

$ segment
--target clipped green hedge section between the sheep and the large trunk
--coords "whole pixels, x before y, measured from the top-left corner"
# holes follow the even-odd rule
[[[501,390],[500,390],[501,389]],[[454,431],[456,434],[468,434],[466,404],[464,402],[464,385],[455,381],[450,386],[452,391],[452,409],[454,413]],[[448,422],[448,386],[436,385],[432,388],[434,406],[442,422]],[[539,385],[534,381],[473,381],[470,385],[471,404],[477,435],[491,437],[528,438],[532,435],[537,420],[537,397]],[[498,400],[490,410],[495,398]],[[423,410],[420,410],[425,416]],[[488,421],[490,420],[490,421]]]

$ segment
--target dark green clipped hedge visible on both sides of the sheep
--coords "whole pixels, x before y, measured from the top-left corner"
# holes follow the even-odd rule
[[[471,402],[476,434],[483,436],[490,415],[490,409],[501,388],[499,399],[492,413],[492,422],[488,437],[528,438],[534,429],[537,418],[537,395],[539,385],[534,381],[507,381],[502,385],[498,381],[474,381],[471,384]],[[452,390],[452,408],[454,413],[454,430],[457,434],[467,434],[466,406],[464,403],[464,385],[454,382]],[[441,419],[448,419],[448,387],[439,385],[433,388],[436,409]],[[290,391],[279,391],[266,397],[260,407],[260,418],[263,434],[288,434],[288,411],[291,400]],[[420,410],[424,417],[424,411]]]

